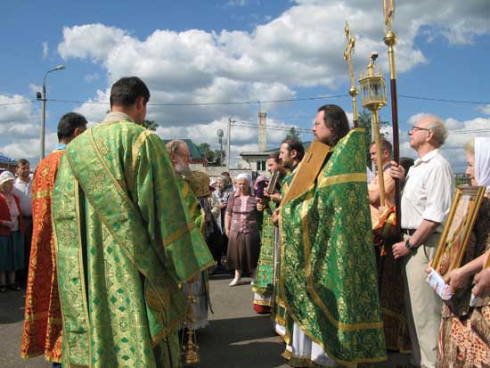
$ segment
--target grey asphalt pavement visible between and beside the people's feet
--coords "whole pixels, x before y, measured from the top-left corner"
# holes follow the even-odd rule
[[[245,278],[244,281],[249,281]],[[283,368],[288,367],[284,349],[274,334],[268,315],[252,309],[253,294],[249,282],[228,287],[230,277],[211,278],[211,298],[215,314],[209,325],[198,332],[199,368]],[[0,368],[45,368],[51,364],[42,357],[20,359],[20,336],[24,313],[24,293],[0,294]],[[389,355],[387,363],[375,367],[404,367],[407,356]]]

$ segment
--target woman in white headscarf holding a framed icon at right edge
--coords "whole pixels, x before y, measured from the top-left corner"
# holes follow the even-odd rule
[[[490,253],[490,138],[476,138],[465,145],[465,151],[466,174],[471,185],[486,186],[486,194],[462,266],[445,275],[453,297],[443,305],[437,354],[439,368],[490,367],[490,294],[480,294],[483,298],[480,307],[470,307],[473,275],[481,274]],[[478,278],[477,275],[475,280]]]

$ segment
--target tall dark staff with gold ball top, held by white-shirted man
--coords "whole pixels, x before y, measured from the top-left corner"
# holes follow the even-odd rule
[[[400,163],[400,139],[398,135],[398,102],[396,100],[396,69],[395,69],[395,50],[396,34],[391,29],[391,23],[395,7],[393,0],[383,0],[385,12],[385,25],[387,33],[384,41],[388,46],[389,61],[389,86],[391,89],[391,120],[393,122],[393,159],[397,164]],[[395,180],[395,210],[396,210],[396,237],[401,240],[402,236],[402,213],[401,213],[401,185],[398,179]]]

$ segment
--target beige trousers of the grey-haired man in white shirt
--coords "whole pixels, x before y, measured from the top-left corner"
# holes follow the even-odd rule
[[[436,255],[440,236],[440,233],[433,233],[403,260],[404,302],[412,339],[412,364],[421,365],[423,368],[436,367],[442,299],[426,282],[425,269]],[[404,239],[407,238],[405,235]]]

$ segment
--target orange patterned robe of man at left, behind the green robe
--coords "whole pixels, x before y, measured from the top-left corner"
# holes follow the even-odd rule
[[[20,356],[61,362],[61,307],[51,222],[54,182],[64,150],[37,165],[32,181],[32,243]]]

